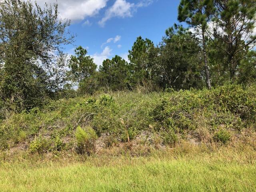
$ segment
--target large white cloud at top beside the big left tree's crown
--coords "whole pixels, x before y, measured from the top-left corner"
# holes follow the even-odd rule
[[[72,22],[84,20],[87,17],[98,14],[99,10],[106,6],[108,0],[59,0],[58,10],[62,19],[67,18]],[[37,0],[43,6],[53,4],[56,0]]]

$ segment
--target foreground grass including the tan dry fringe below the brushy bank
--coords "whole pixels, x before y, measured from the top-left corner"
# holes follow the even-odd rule
[[[155,150],[148,156],[26,156],[0,164],[0,191],[254,191],[256,150],[195,146]]]

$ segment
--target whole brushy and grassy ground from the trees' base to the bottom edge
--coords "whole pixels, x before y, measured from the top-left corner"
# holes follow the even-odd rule
[[[256,191],[255,92],[110,92],[6,114],[0,192]]]

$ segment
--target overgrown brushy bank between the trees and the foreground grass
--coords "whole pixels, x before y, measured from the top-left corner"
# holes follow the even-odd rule
[[[52,101],[44,108],[12,113],[0,122],[2,150],[94,154],[128,144],[153,148],[182,140],[227,144],[255,131],[256,86],[207,90],[110,92]]]

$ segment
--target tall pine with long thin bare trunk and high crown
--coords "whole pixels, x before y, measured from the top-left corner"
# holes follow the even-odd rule
[[[211,88],[210,70],[206,54],[205,32],[214,10],[213,0],[181,0],[178,7],[178,20],[186,22],[192,28],[200,28],[202,35],[202,50],[204,52],[204,68],[207,88]]]

